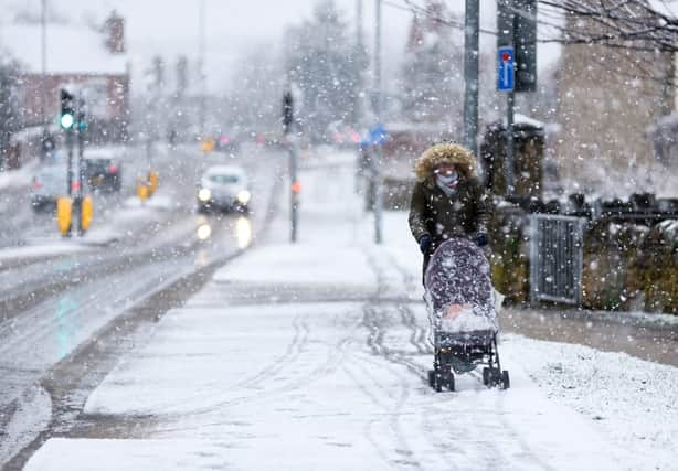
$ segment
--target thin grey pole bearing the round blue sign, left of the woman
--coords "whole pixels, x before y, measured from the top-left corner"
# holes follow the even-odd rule
[[[374,92],[377,99],[374,100],[374,117],[377,122],[382,120],[382,83],[381,83],[381,0],[374,0]],[[370,167],[372,170],[372,183],[374,186],[374,243],[381,244],[381,218],[383,210],[383,184],[381,181],[381,161],[382,148],[379,144],[372,144],[372,158]]]

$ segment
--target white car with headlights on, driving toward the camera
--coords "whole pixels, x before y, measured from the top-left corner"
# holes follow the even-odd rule
[[[248,213],[252,193],[245,171],[237,165],[213,165],[198,184],[198,212]]]

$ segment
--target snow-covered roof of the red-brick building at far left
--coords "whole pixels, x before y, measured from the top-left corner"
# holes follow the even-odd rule
[[[40,24],[2,24],[0,49],[13,55],[25,72],[42,72]],[[49,23],[46,28],[46,73],[124,75],[126,54],[112,54],[105,35],[86,26]]]

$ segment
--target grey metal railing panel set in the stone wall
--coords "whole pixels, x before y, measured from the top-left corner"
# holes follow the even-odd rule
[[[530,216],[530,299],[580,304],[584,218]]]

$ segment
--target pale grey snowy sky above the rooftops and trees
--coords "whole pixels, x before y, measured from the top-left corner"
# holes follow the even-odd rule
[[[315,0],[204,0],[206,8],[205,36],[208,85],[213,90],[227,86],[235,60],[248,45],[275,44],[285,28],[308,18]],[[405,4],[402,0],[393,3]],[[199,49],[200,0],[47,0],[59,14],[71,14],[80,21],[100,22],[110,10],[117,10],[127,21],[127,44],[134,76],[148,67],[150,58],[160,54],[172,64],[180,54],[194,60]],[[420,1],[423,3],[423,1]],[[0,4],[39,11],[40,0],[0,0]],[[357,0],[336,0],[345,19],[354,25]],[[368,45],[373,44],[374,0],[363,0],[363,26]],[[447,0],[462,12],[463,0]],[[386,74],[393,71],[402,55],[411,13],[384,4],[383,41]],[[483,24],[495,25],[495,1],[481,0]],[[494,39],[483,38],[481,50],[494,51]],[[554,49],[540,47],[540,62],[551,62]],[[388,78],[388,76],[386,76]]]

